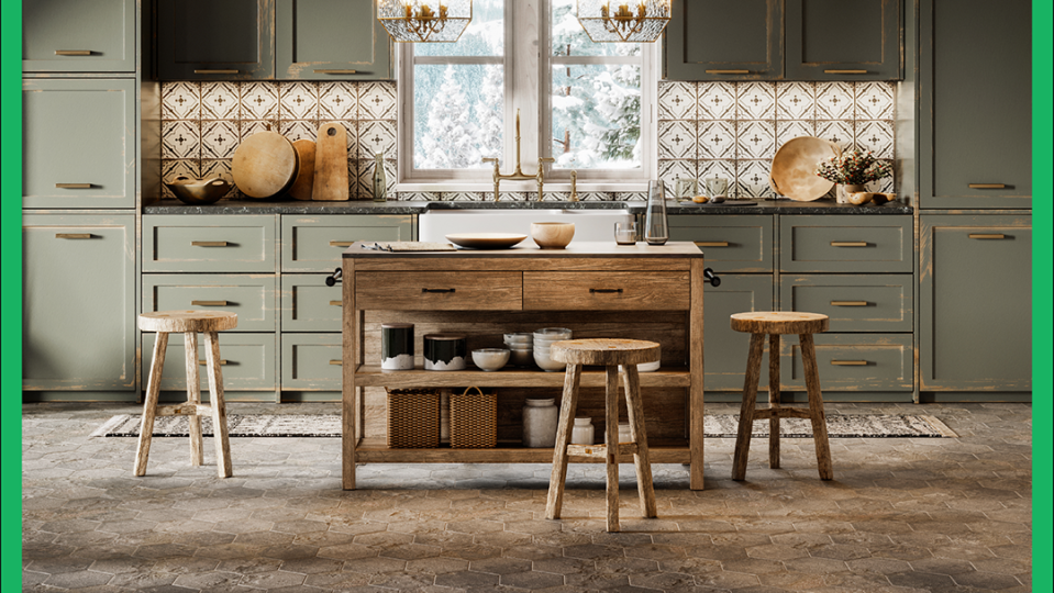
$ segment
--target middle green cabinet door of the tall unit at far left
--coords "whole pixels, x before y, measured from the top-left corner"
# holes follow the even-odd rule
[[[135,206],[135,80],[22,82],[22,206]]]

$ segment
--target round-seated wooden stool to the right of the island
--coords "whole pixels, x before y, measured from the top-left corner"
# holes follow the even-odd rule
[[[834,469],[831,466],[831,447],[828,445],[828,424],[823,417],[823,395],[820,392],[820,373],[817,370],[817,351],[812,344],[812,334],[828,331],[828,316],[796,311],[736,313],[732,315],[732,329],[751,334],[751,354],[746,360],[743,407],[740,410],[740,430],[735,437],[732,479],[746,478],[746,458],[751,452],[754,421],[763,418],[768,418],[768,466],[770,468],[779,468],[779,418],[809,418],[812,421],[812,438],[817,445],[820,479],[833,479]],[[756,410],[757,380],[761,377],[765,334],[768,334],[768,410]],[[781,334],[798,334],[801,362],[806,371],[806,389],[809,392],[808,411],[779,405],[779,336]]]

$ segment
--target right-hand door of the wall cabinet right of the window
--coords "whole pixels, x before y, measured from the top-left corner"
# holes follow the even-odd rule
[[[900,47],[900,0],[787,0],[787,79],[896,80]]]

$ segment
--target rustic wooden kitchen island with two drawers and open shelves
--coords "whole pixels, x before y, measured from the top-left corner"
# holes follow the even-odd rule
[[[559,401],[563,372],[512,367],[425,371],[420,356],[426,333],[464,333],[471,350],[499,347],[503,333],[547,326],[570,327],[576,338],[625,337],[662,345],[662,368],[641,373],[652,462],[690,463],[690,488],[702,490],[704,278],[702,253],[692,243],[573,242],[566,249],[435,253],[385,253],[355,243],[344,251],[342,273],[345,490],[356,488],[356,463],[552,462],[553,449],[519,445],[514,424],[524,393]],[[391,321],[415,326],[414,370],[380,369],[379,327]],[[603,384],[603,369],[587,367],[579,414],[602,409]],[[377,428],[384,424],[376,417],[384,409],[367,406],[367,399],[377,401],[376,394],[367,398],[370,389],[468,385],[499,388],[497,448],[388,448]],[[597,414],[591,415],[596,419]],[[599,430],[597,438],[602,438]]]

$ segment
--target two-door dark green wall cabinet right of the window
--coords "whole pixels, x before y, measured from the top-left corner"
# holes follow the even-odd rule
[[[897,80],[901,0],[681,0],[672,80]]]

